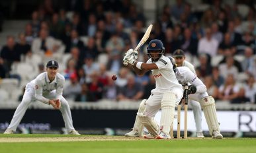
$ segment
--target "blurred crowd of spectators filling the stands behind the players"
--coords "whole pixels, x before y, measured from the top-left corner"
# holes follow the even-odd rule
[[[248,1],[245,1],[248,2]],[[239,14],[239,3],[247,15]],[[216,100],[241,104],[256,99],[256,11],[238,1],[206,2],[204,11],[177,0],[165,5],[155,17],[149,40],[159,39],[165,55],[183,49],[196,68],[208,93]],[[155,80],[151,73],[138,77],[122,65],[122,57],[135,48],[148,26],[142,7],[130,0],[70,1],[56,7],[45,0],[32,12],[30,22],[18,36],[8,36],[0,51],[0,78],[17,78],[23,89],[44,71],[45,61],[56,59],[65,76],[64,96],[75,102],[107,99],[128,102],[148,98]],[[148,59],[146,46],[139,61]],[[14,71],[22,63],[34,69],[22,75]],[[118,79],[113,81],[112,75]]]

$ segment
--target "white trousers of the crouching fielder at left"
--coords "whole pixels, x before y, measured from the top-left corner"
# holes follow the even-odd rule
[[[48,98],[50,100],[53,100],[56,98],[56,90],[53,90],[49,94],[43,95],[45,98]],[[28,106],[35,102],[36,98],[34,97],[34,88],[32,84],[28,83],[26,84],[26,90],[24,92],[24,96],[22,98],[21,104],[17,107],[13,119],[11,119],[11,123],[8,127],[8,129],[11,129],[13,131],[16,131],[18,125],[21,123],[21,119],[24,116],[26,109],[28,109]],[[67,100],[62,96],[60,98],[60,102],[62,103],[60,107],[60,111],[62,112],[62,117],[65,122],[65,128],[67,129],[67,132],[74,129],[73,127],[73,121],[71,117],[71,111],[69,108],[69,105],[67,103]]]

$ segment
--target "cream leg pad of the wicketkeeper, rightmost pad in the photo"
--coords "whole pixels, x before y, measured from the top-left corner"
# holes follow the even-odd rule
[[[214,98],[212,98],[212,96],[202,98],[200,100],[200,105],[204,111],[204,116],[209,128],[210,135],[212,135],[213,131],[218,131],[220,133]]]

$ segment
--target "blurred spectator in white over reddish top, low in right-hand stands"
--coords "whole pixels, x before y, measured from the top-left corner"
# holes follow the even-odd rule
[[[218,98],[220,100],[234,100],[238,97],[239,86],[235,85],[234,75],[229,74],[225,80],[225,84],[222,84],[219,88]]]

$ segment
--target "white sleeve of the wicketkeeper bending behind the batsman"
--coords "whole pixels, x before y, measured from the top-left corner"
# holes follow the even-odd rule
[[[196,77],[194,73],[192,73],[192,71],[187,71],[186,77],[186,80],[189,80],[189,83],[196,86],[196,94],[202,94],[206,92],[206,86],[198,77]]]

